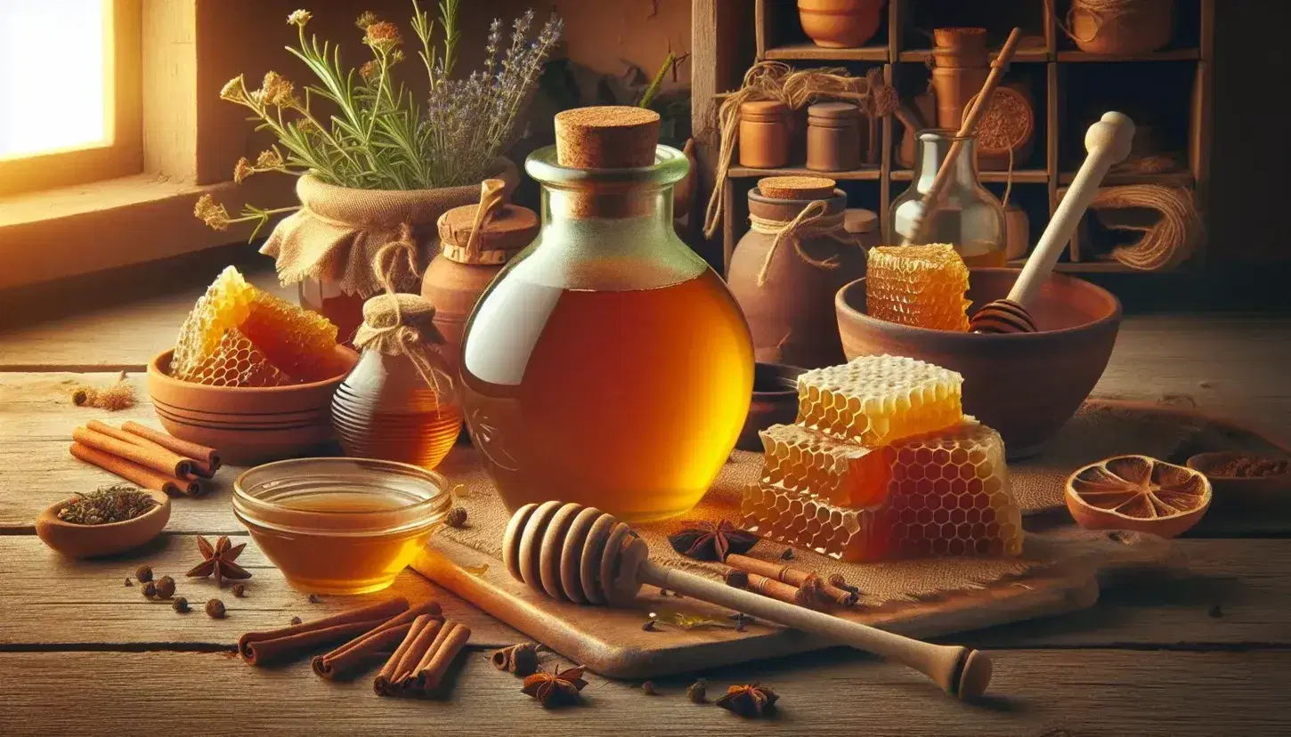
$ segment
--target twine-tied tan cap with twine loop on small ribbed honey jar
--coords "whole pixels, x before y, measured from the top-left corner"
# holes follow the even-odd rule
[[[408,230],[411,232],[412,228]],[[416,268],[417,249],[408,248],[402,240],[381,247],[372,259],[372,270],[381,278],[386,292],[363,303],[363,325],[359,325],[354,336],[354,347],[360,351],[371,348],[387,356],[403,355],[412,361],[426,386],[439,394],[440,378],[452,389],[453,377],[427,356],[434,351],[427,343],[443,342],[443,337],[431,323],[435,306],[417,294],[402,294],[395,290],[392,275],[400,256]]]

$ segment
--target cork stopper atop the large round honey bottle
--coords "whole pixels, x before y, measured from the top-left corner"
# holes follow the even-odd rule
[[[629,106],[558,112],[556,161],[574,169],[633,169],[655,163],[658,114]]]

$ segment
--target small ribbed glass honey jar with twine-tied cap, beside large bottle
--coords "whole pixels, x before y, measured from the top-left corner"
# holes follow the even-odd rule
[[[462,427],[457,381],[435,345],[435,308],[416,294],[363,305],[361,355],[332,398],[332,426],[346,456],[434,469]]]

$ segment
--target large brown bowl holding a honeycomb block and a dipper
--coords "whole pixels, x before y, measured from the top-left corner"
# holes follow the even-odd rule
[[[1008,294],[1017,268],[971,268],[970,315]],[[1121,302],[1088,281],[1053,274],[1041,288],[1032,315],[1041,332],[981,336],[899,325],[865,314],[865,280],[834,299],[843,352],[891,354],[924,360],[964,377],[964,413],[1004,438],[1010,458],[1025,458],[1090,395],[1112,356]]]

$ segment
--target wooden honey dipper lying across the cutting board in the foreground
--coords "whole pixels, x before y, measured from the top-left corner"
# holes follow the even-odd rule
[[[643,583],[728,607],[882,656],[971,700],[990,683],[990,657],[959,645],[933,645],[821,612],[759,596],[649,560],[646,541],[613,515],[577,503],[520,507],[502,538],[502,560],[518,581],[577,604],[629,604]]]

